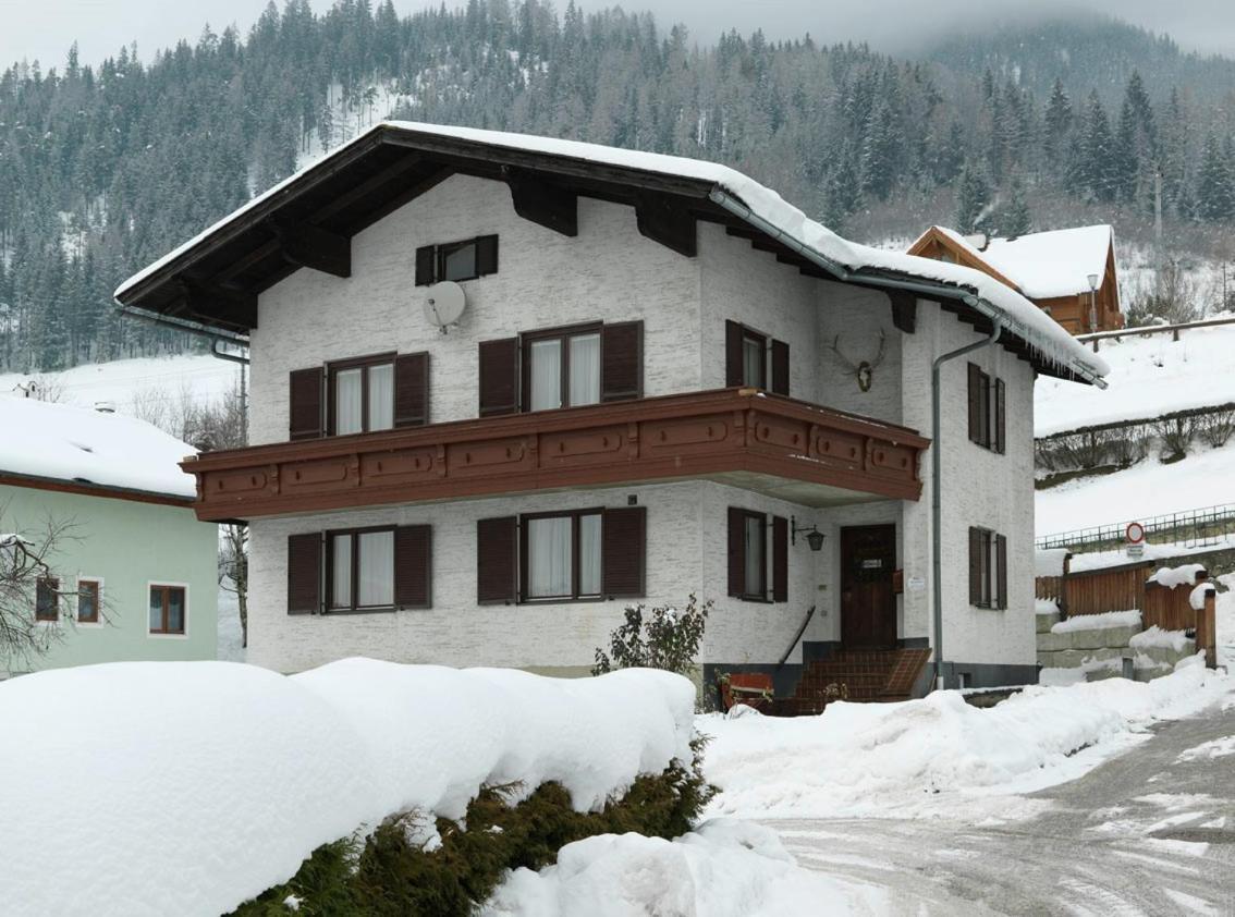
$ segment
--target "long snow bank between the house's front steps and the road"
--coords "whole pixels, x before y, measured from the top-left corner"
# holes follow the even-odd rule
[[[1023,792],[1073,779],[1162,718],[1233,690],[1195,657],[1149,684],[1029,686],[979,710],[957,691],[903,703],[831,703],[815,717],[698,718],[720,787],[718,815],[832,817],[911,812],[952,794]],[[1094,745],[1083,755],[1077,750]]]

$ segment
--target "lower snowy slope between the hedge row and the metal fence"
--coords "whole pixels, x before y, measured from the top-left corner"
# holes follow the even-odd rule
[[[1235,371],[1229,375],[1235,378]],[[1168,465],[1150,455],[1123,471],[1039,490],[1035,528],[1053,534],[1231,502],[1235,441],[1218,449],[1193,443],[1187,458]]]

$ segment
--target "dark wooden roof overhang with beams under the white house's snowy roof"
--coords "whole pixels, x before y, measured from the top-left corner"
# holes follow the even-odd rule
[[[490,139],[380,123],[296,173],[116,290],[116,301],[163,320],[231,334],[257,327],[261,293],[300,268],[351,274],[351,238],[454,174],[501,181],[516,212],[566,236],[577,233],[578,199],[630,205],[638,231],[683,255],[695,254],[699,220],[720,223],[756,249],[809,276],[889,293],[897,327],[905,297],[932,297],[978,330],[992,309],[972,290],[887,270],[848,270],[758,220],[705,176],[672,174]],[[737,206],[732,206],[734,204]],[[1046,374],[1097,381],[1044,359],[1032,334],[1010,328],[1000,341]]]

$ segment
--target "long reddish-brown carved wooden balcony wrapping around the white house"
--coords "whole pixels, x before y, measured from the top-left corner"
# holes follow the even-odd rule
[[[198,517],[714,480],[808,506],[916,500],[930,441],[905,427],[720,389],[205,453]]]

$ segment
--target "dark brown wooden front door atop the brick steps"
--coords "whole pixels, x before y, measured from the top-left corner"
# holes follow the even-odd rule
[[[897,645],[895,526],[841,529],[841,642],[846,649]]]

